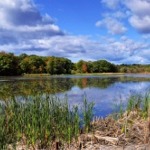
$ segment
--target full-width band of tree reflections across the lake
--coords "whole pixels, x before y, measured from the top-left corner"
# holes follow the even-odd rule
[[[132,77],[48,77],[48,78],[27,78],[20,80],[10,79],[0,83],[0,100],[11,96],[29,96],[39,92],[45,94],[58,94],[70,91],[72,87],[78,86],[81,89],[96,87],[106,89],[116,82],[140,82],[150,81],[150,78]]]

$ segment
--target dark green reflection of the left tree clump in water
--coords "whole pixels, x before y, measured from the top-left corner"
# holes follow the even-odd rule
[[[70,90],[73,85],[69,78],[1,82],[0,99],[6,99],[10,96],[35,95],[39,92],[56,94]]]

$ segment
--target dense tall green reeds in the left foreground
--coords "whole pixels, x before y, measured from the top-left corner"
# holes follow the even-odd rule
[[[49,95],[16,97],[5,100],[0,106],[0,149],[16,147],[24,141],[39,149],[50,148],[54,143],[70,144],[82,130],[89,131],[93,104],[83,100],[83,108],[69,107],[67,98],[60,100]],[[81,117],[83,116],[83,117]]]

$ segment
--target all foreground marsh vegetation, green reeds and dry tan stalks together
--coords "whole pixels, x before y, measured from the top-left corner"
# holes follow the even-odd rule
[[[93,116],[93,103],[69,106],[42,93],[1,101],[0,149],[26,146],[33,149],[84,147],[94,139],[100,144],[124,145],[150,142],[150,95],[132,95],[124,111],[105,119]],[[140,136],[140,138],[139,138]]]

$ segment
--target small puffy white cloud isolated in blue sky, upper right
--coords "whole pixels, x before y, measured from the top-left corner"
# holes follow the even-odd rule
[[[123,34],[127,31],[126,27],[117,19],[107,17],[96,22],[97,27],[106,27],[111,34]]]

